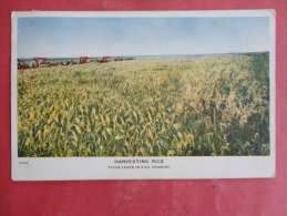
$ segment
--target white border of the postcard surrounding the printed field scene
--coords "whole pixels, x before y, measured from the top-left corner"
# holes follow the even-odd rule
[[[270,155],[201,157],[18,157],[17,132],[17,29],[23,17],[269,17]],[[11,58],[11,154],[13,181],[65,179],[184,179],[275,177],[275,11],[125,11],[12,13]],[[116,163],[125,160],[131,163]],[[136,161],[137,160],[137,161]],[[139,162],[139,161],[145,161]],[[153,163],[156,161],[156,163]],[[135,163],[134,163],[135,162]],[[148,163],[146,163],[148,162]],[[125,168],[123,168],[126,166]],[[133,166],[129,168],[127,166]],[[148,168],[147,168],[148,166]],[[165,168],[158,168],[164,166]],[[120,167],[120,168],[119,168]],[[156,168],[155,168],[156,167]]]

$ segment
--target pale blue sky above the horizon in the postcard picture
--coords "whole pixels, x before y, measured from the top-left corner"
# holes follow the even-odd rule
[[[269,51],[269,18],[19,18],[18,58]]]

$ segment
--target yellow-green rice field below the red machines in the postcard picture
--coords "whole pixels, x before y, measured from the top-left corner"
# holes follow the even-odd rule
[[[18,155],[269,155],[268,55],[18,70]]]

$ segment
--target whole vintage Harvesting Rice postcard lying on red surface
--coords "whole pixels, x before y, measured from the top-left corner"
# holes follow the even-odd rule
[[[13,12],[12,179],[275,176],[275,11]]]

